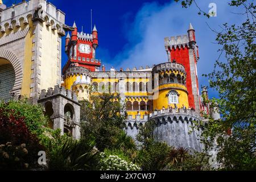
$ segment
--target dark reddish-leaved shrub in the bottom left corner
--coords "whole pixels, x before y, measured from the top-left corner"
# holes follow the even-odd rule
[[[35,134],[28,130],[24,117],[3,107],[0,108],[0,144],[0,169],[35,167],[38,152],[43,150]]]

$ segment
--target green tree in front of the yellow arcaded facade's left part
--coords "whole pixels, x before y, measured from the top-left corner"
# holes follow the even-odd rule
[[[81,137],[94,141],[100,151],[114,146],[125,127],[123,105],[114,94],[98,93],[90,101],[81,102]]]

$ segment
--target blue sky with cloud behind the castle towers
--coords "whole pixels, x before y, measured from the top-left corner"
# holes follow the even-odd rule
[[[20,0],[21,1],[21,0]],[[16,2],[20,2],[16,1]],[[8,6],[14,0],[3,0]],[[205,12],[209,11],[209,3],[216,3],[217,16],[209,19],[198,15],[195,5],[184,9],[180,2],[172,0],[50,0],[57,9],[66,14],[66,24],[76,25],[81,31],[90,32],[90,9],[93,10],[93,24],[99,34],[99,47],[96,58],[101,59],[107,69],[139,68],[141,65],[152,66],[167,61],[164,49],[164,37],[187,34],[189,23],[196,30],[200,60],[197,64],[199,84],[209,85],[208,79],[201,76],[213,70],[214,61],[218,58],[220,48],[216,42],[216,34],[210,30],[221,31],[223,23],[239,23],[242,16],[239,9],[231,9],[228,0],[197,0],[197,4]],[[208,27],[209,25],[209,27]],[[64,38],[63,38],[64,40]],[[62,65],[67,56],[62,53]],[[217,97],[217,92],[209,89],[210,97]]]

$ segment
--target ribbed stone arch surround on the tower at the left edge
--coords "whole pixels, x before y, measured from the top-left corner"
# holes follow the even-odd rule
[[[20,64],[18,57],[11,51],[0,49],[0,59],[7,60],[13,65],[14,73],[15,73],[15,81],[13,88],[10,90],[11,93],[15,95],[20,95],[20,90],[22,87],[22,79],[23,79],[23,69]]]

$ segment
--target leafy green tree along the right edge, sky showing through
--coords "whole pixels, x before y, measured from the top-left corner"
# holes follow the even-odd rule
[[[195,0],[181,2],[183,7],[192,3]],[[214,31],[221,46],[220,57],[213,72],[204,76],[209,78],[210,87],[219,92],[220,98],[210,102],[220,107],[222,119],[210,119],[202,136],[206,150],[217,141],[217,160],[222,168],[256,169],[256,6],[246,0],[230,1],[229,5],[239,7],[244,21],[225,23],[221,32]],[[209,18],[200,7],[199,11]]]

